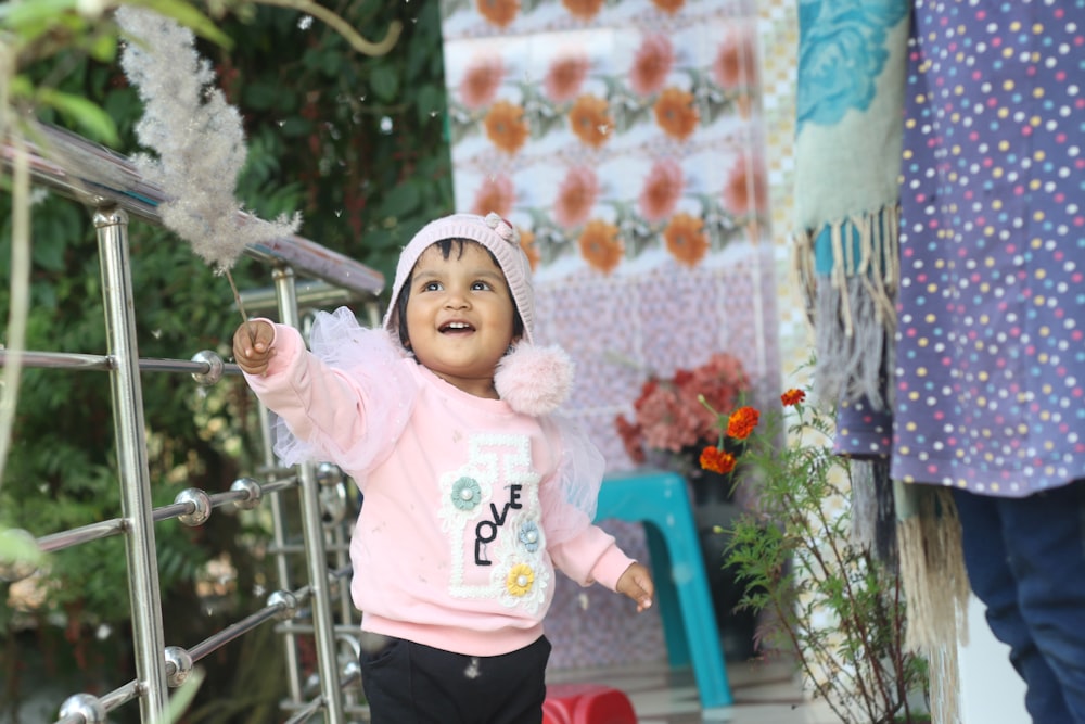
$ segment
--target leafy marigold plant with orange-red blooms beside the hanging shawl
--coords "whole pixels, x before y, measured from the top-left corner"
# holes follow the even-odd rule
[[[853,536],[853,462],[832,449],[834,406],[797,389],[780,399],[766,416],[713,410],[719,442],[701,456],[756,499],[718,529],[725,564],[745,585],[738,608],[762,620],[758,648],[792,656],[804,688],[844,724],[928,722],[915,704],[929,697],[927,662],[905,647],[901,577]]]

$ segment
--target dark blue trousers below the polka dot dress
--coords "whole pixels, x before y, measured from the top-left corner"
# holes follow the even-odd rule
[[[1085,724],[1082,483],[1023,499],[955,498],[972,589],[1010,647],[1033,722]]]

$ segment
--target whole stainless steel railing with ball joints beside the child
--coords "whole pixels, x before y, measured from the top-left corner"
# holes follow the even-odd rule
[[[0,163],[10,166],[14,150],[0,145]],[[161,192],[145,183],[133,166],[123,156],[95,145],[67,131],[41,126],[31,143],[31,168],[35,182],[49,186],[60,193],[90,205],[98,231],[99,255],[103,281],[107,351],[105,355],[67,354],[56,352],[21,352],[20,364],[66,371],[99,370],[107,373],[112,390],[116,454],[119,465],[120,515],[107,521],[88,523],[35,538],[41,551],[56,551],[113,535],[123,535],[128,564],[128,597],[132,612],[136,679],[98,697],[77,694],[61,706],[58,724],[100,724],[108,712],[139,701],[142,722],[165,722],[169,687],[182,684],[192,665],[210,652],[267,623],[279,622],[284,640],[285,665],[290,696],[280,702],[290,722],[305,722],[323,712],[327,722],[365,721],[366,708],[357,697],[344,693],[344,687],[358,678],[356,657],[341,665],[339,647],[346,639],[348,648],[357,650],[357,626],[352,621],[347,586],[341,580],[349,574],[346,559],[343,516],[327,516],[322,490],[337,491],[345,496],[345,484],[335,469],[298,466],[292,470],[276,467],[270,445],[267,410],[261,410],[264,443],[260,482],[243,478],[230,491],[207,493],[197,488],[182,491],[171,505],[157,509],[151,505],[148,452],[144,440],[143,403],[140,373],[190,373],[201,384],[214,384],[224,374],[235,374],[234,365],[224,364],[217,355],[201,352],[190,360],[140,358],[136,341],[137,300],[132,299],[130,278],[128,221],[129,215],[161,225],[157,205]],[[291,237],[251,246],[246,254],[268,263],[271,268],[273,299],[279,318],[284,323],[302,328],[298,287],[295,274],[316,280],[306,282],[303,295],[307,303],[320,300],[344,303],[372,301],[383,287],[380,274],[345,256],[321,247],[306,239]],[[268,302],[264,292],[257,294]],[[0,351],[0,365],[7,364],[8,352]],[[290,542],[285,506],[281,496],[296,490],[301,510],[302,545]],[[186,525],[205,524],[214,509],[233,505],[252,508],[267,500],[272,517],[271,550],[276,556],[278,589],[267,599],[265,608],[212,635],[189,648],[165,645],[162,601],[155,558],[154,525],[178,519]],[[24,535],[28,535],[25,534]],[[33,537],[33,536],[30,536]],[[294,587],[288,557],[305,559],[305,585]],[[334,564],[330,566],[329,561]],[[23,574],[29,574],[24,571]],[[302,605],[307,605],[310,625],[294,622]],[[340,623],[336,623],[336,618]],[[314,638],[318,691],[306,698],[307,682],[301,681],[297,637]],[[354,638],[352,638],[354,636]]]

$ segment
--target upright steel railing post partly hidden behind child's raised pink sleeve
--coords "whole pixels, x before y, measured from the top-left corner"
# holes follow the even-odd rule
[[[277,267],[272,272],[282,323],[301,329],[294,288],[294,271]],[[311,610],[314,638],[317,648],[317,666],[320,671],[320,693],[324,700],[327,721],[345,722],[342,691],[340,690],[339,659],[336,657],[335,621],[332,617],[331,583],[328,580],[328,554],[324,547],[323,520],[320,510],[316,467],[312,462],[298,466],[302,503],[302,535],[305,541],[305,564],[312,592]]]

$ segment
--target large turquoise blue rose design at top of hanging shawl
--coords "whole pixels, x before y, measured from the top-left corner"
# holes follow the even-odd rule
[[[889,51],[890,28],[908,15],[902,0],[802,0],[795,116],[831,126],[848,109],[866,111]]]

